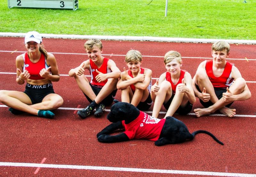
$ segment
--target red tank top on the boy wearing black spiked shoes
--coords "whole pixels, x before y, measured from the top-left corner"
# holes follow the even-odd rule
[[[96,69],[103,74],[112,72],[110,69],[108,69],[108,60],[109,60],[108,58],[104,58],[100,68],[98,68],[97,65],[95,65],[95,63],[92,60],[90,60],[90,74],[91,74],[92,85],[103,87],[107,83],[108,79],[106,79],[103,82],[98,82],[96,81],[95,77],[98,75],[98,73],[96,72]]]

